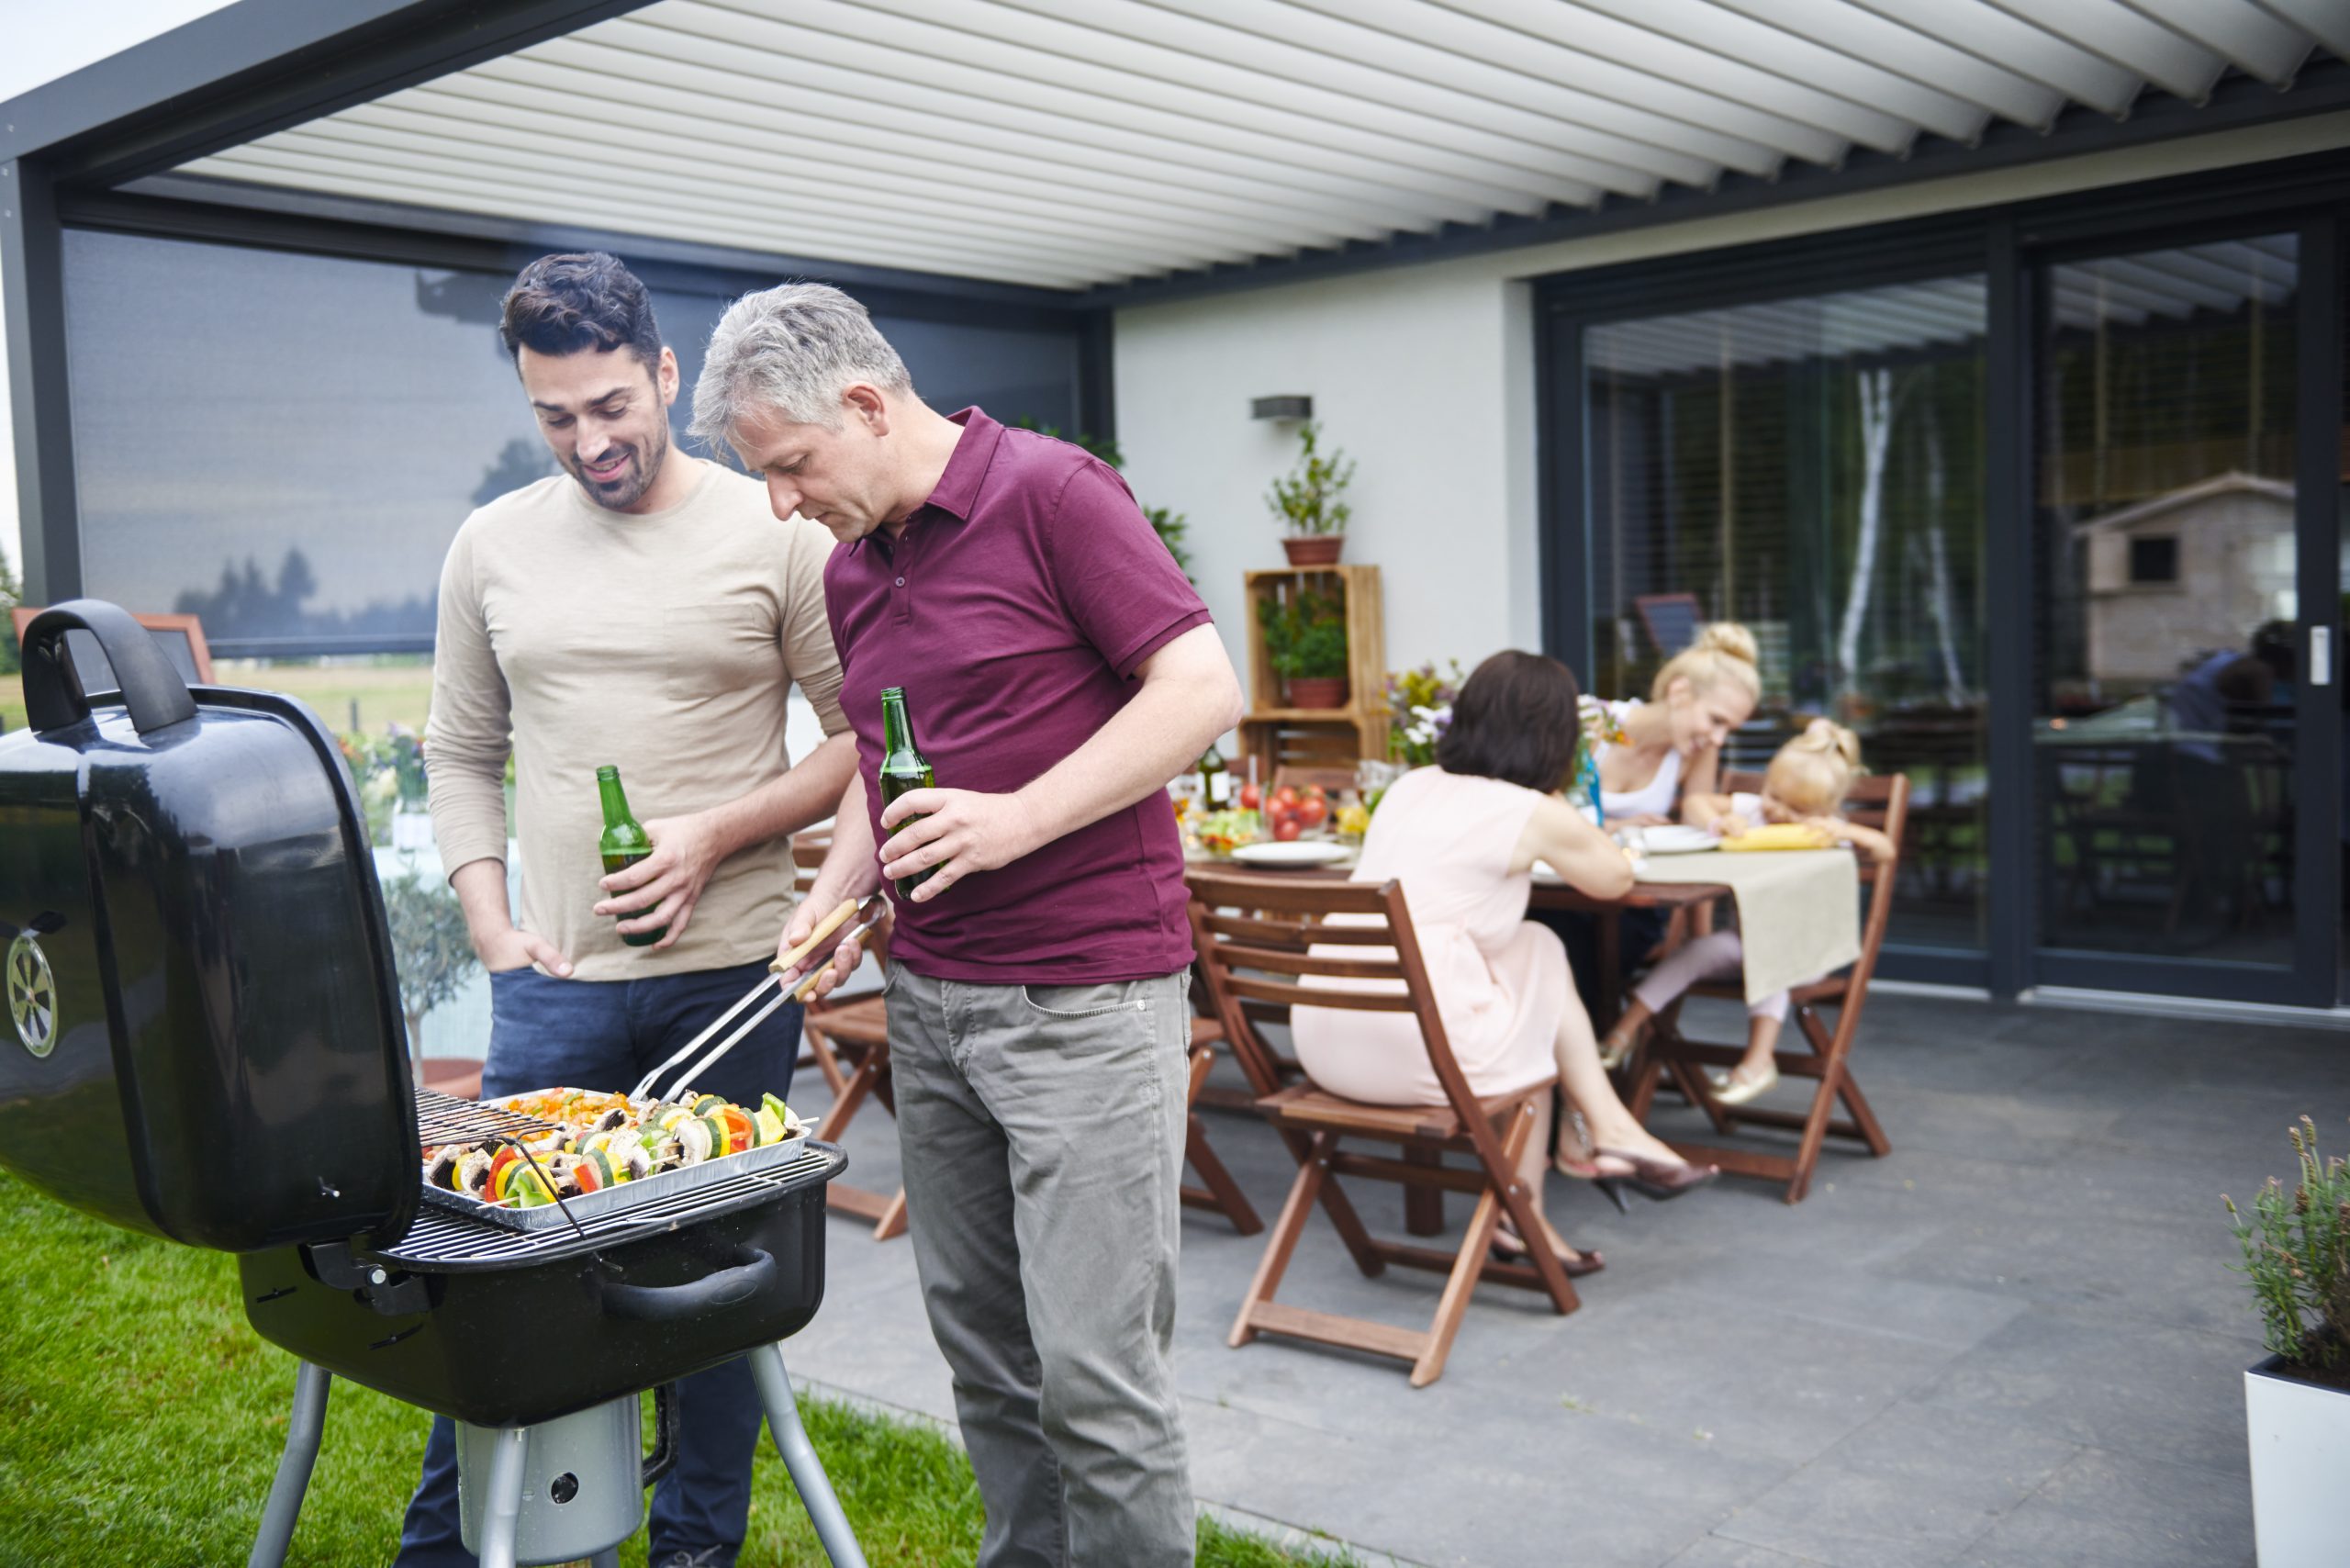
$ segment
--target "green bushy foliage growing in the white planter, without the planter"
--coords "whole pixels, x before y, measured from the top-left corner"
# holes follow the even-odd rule
[[[2247,1215],[2223,1197],[2244,1248],[2254,1307],[2270,1354],[2326,1378],[2350,1375],[2350,1161],[2317,1152],[2317,1124],[2289,1128],[2298,1180],[2275,1175]]]

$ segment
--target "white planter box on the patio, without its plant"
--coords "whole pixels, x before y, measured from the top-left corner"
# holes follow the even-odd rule
[[[2350,1392],[2287,1378],[2277,1356],[2244,1373],[2251,1526],[2261,1568],[2350,1563]]]

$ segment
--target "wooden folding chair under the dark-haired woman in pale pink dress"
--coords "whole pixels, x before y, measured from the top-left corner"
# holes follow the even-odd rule
[[[1349,917],[1368,924],[1332,924],[1332,917]],[[1579,1305],[1574,1286],[1544,1246],[1544,1229],[1535,1215],[1535,1194],[1518,1180],[1518,1161],[1535,1135],[1535,1114],[1542,1095],[1551,1093],[1556,1077],[1530,1084],[1518,1093],[1480,1100],[1469,1093],[1445,1025],[1436,1013],[1436,997],[1429,990],[1429,971],[1419,957],[1419,940],[1412,936],[1412,917],[1403,905],[1403,886],[1384,882],[1379,886],[1351,882],[1248,877],[1234,872],[1191,875],[1191,936],[1201,964],[1213,978],[1224,1004],[1224,1025],[1234,1030],[1236,1053],[1253,1063],[1253,1077],[1269,1077],[1253,1025],[1241,1016],[1238,1004],[1262,1001],[1274,1006],[1328,1006],[1372,1013],[1410,1013],[1419,1025],[1419,1037],[1429,1051],[1436,1081],[1445,1088],[1445,1105],[1363,1105],[1344,1100],[1311,1081],[1271,1088],[1257,1100],[1257,1110],[1281,1131],[1283,1143],[1297,1157],[1297,1182],[1290,1187],[1274,1234],[1264,1246],[1257,1276],[1241,1300],[1241,1316],[1231,1326],[1231,1345],[1241,1347],[1260,1333],[1278,1333],[1344,1349],[1365,1349],[1412,1363],[1412,1387],[1426,1387],[1445,1371],[1452,1338],[1459,1333],[1462,1314],[1469,1309],[1469,1293],[1480,1279],[1495,1284],[1544,1291],[1551,1305],[1565,1314]],[[1365,957],[1316,954],[1316,945],[1349,950],[1372,950]],[[1377,957],[1386,950],[1391,957]],[[1314,985],[1304,978],[1351,980],[1358,985]],[[1370,983],[1370,985],[1361,985]],[[1243,1046],[1241,1034],[1250,1034]],[[1342,1140],[1370,1138],[1394,1143],[1398,1159],[1354,1154],[1340,1150]],[[1445,1152],[1469,1154],[1476,1166],[1445,1166]],[[1354,1204],[1332,1180],[1337,1175],[1361,1175],[1368,1180],[1398,1182],[1405,1192],[1466,1192],[1476,1197],[1469,1218],[1469,1234],[1459,1251],[1445,1253],[1431,1246],[1382,1241],[1363,1229]],[[1426,1331],[1394,1328],[1368,1319],[1349,1319],[1330,1312],[1285,1307],[1274,1300],[1281,1276],[1288,1272],[1290,1253],[1304,1232],[1316,1204],[1330,1215],[1340,1239],[1354,1255],[1363,1274],[1375,1276],[1396,1262],[1412,1269],[1445,1274],[1445,1288],[1436,1305],[1436,1319]],[[1532,1241],[1532,1262],[1497,1262],[1490,1258],[1495,1227],[1509,1213],[1520,1237]]]

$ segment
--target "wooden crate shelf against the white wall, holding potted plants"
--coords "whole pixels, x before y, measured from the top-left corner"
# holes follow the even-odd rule
[[[1269,567],[1243,576],[1248,602],[1248,717],[1241,755],[1255,757],[1264,778],[1288,766],[1328,766],[1386,757],[1386,630],[1379,611],[1377,567]],[[1347,705],[1290,708],[1281,677],[1264,656],[1257,604],[1290,602],[1300,592],[1335,597],[1347,607]]]

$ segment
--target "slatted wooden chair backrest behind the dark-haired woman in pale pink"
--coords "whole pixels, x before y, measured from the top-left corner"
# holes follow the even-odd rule
[[[1328,877],[1262,877],[1248,872],[1194,870],[1191,940],[1201,971],[1215,992],[1224,1034],[1241,1056],[1257,1093],[1271,1093],[1271,1051],[1257,1034],[1246,1004],[1328,1006],[1368,1013],[1410,1013],[1419,1020],[1419,1039],[1429,1065],[1462,1126],[1478,1140],[1492,1128],[1478,1117],[1476,1095],[1445,1039],[1436,1013],[1436,992],[1419,957],[1412,914],[1403,903],[1401,882],[1337,882]],[[1344,914],[1344,922],[1332,917]],[[1323,952],[1314,952],[1323,947]],[[1351,957],[1330,947],[1389,947],[1396,957]],[[1307,976],[1321,985],[1304,985]],[[1347,987],[1344,980],[1384,980],[1403,990]],[[1490,1150],[1499,1159],[1499,1145]]]

